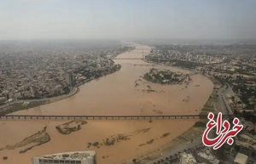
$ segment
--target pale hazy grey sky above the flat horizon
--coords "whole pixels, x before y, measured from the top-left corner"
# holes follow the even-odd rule
[[[256,39],[255,0],[0,0],[5,39]]]

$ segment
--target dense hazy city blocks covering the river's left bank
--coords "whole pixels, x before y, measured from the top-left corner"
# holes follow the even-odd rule
[[[4,42],[0,49],[3,105],[71,93],[84,82],[119,71],[112,58],[132,48],[116,42]]]

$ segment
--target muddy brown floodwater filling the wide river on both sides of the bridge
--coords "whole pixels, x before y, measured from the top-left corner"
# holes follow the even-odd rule
[[[152,65],[139,59],[148,54],[150,47],[136,44],[131,52],[119,54],[115,62],[122,65],[120,71],[104,76],[98,80],[85,83],[80,87],[79,93],[70,98],[55,103],[38,106],[29,110],[20,110],[13,114],[19,115],[193,115],[201,111],[212,93],[213,84],[207,77],[193,74],[190,71],[154,65],[154,68],[180,71],[190,74],[192,81],[189,85],[160,85],[145,82],[142,76],[152,68]],[[122,59],[125,58],[125,59]],[[131,59],[126,59],[131,58]],[[154,92],[147,92],[148,88]],[[20,148],[15,150],[2,150],[1,156],[9,159],[0,163],[23,164],[31,163],[33,156],[73,150],[96,150],[99,164],[119,163],[138,154],[156,149],[174,139],[189,127],[195,120],[164,120],[148,121],[88,121],[81,130],[63,135],[55,130],[55,126],[64,121],[1,121],[0,122],[0,148],[7,144],[16,144],[33,133],[37,133],[47,126],[47,133],[51,140],[47,144],[19,154]],[[179,126],[172,126],[172,125]],[[101,142],[102,139],[119,133],[131,133],[150,127],[147,133],[131,135],[130,140],[116,143],[112,146],[100,148],[87,148],[89,142]],[[171,133],[162,139],[163,133]],[[148,140],[154,139],[152,144],[139,146]],[[104,156],[104,158],[103,158]],[[108,156],[108,157],[107,157]]]

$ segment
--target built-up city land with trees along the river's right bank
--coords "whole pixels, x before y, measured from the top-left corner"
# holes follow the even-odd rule
[[[219,150],[210,150],[197,145],[150,163],[255,163],[256,45],[158,43],[151,46],[154,48],[146,56],[148,62],[181,67],[214,79],[214,88],[218,88],[215,96],[223,99],[226,109],[222,112],[238,116],[244,130],[231,147],[224,145]],[[217,114],[219,110],[207,111]],[[194,127],[206,127],[206,122],[196,122]]]

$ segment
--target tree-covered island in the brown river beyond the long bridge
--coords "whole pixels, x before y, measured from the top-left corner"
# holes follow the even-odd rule
[[[181,72],[173,72],[169,70],[160,70],[152,68],[148,73],[143,76],[148,82],[160,83],[160,84],[182,84],[183,82],[189,82],[189,75]]]

